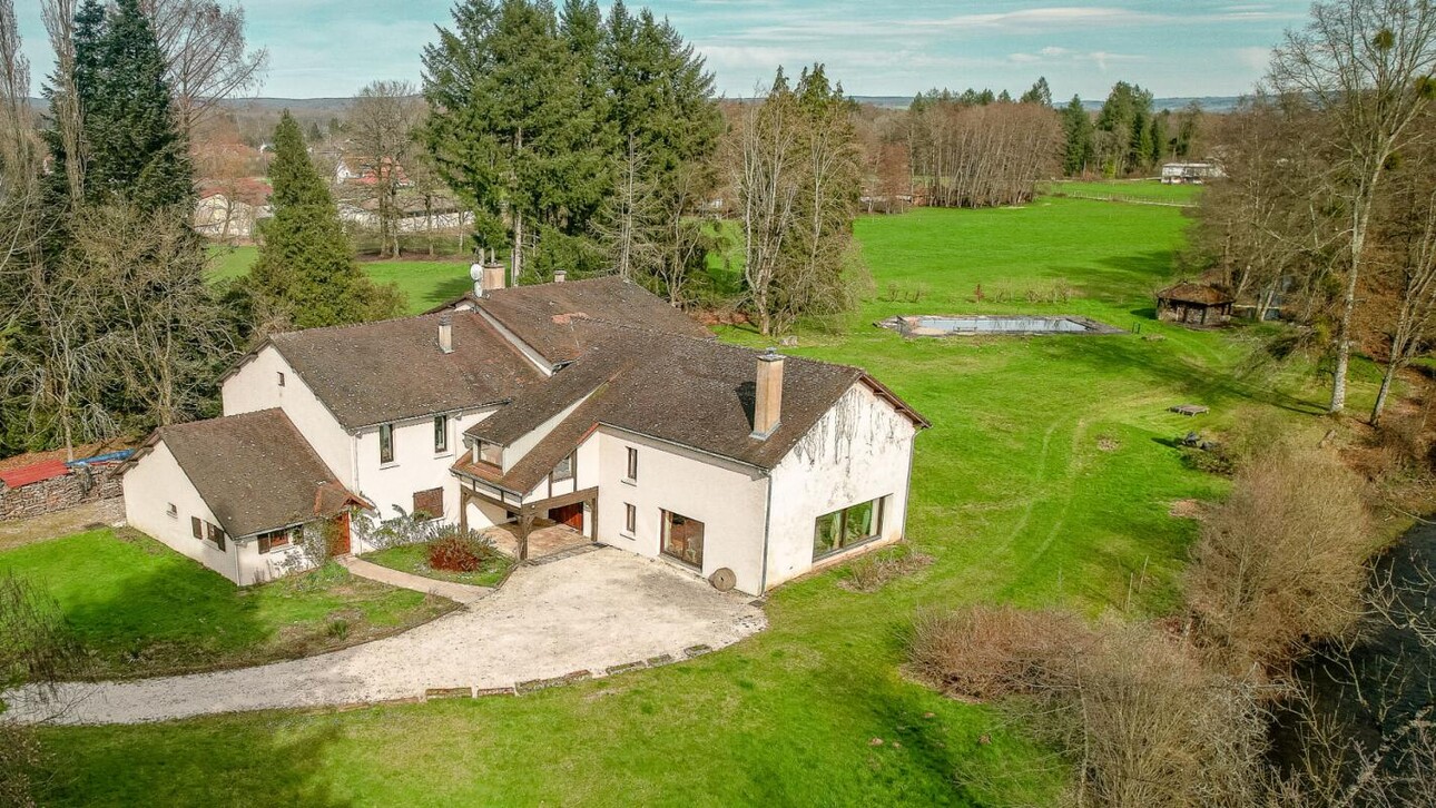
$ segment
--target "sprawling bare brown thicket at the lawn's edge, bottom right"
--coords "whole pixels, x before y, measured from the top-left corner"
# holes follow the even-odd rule
[[[910,660],[949,695],[998,699],[1051,743],[1073,784],[1066,804],[1254,804],[1265,745],[1254,690],[1150,626],[976,606],[919,617]]]

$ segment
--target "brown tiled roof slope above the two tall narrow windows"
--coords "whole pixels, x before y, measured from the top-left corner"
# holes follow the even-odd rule
[[[510,399],[543,379],[482,316],[455,311],[454,352],[441,314],[274,334],[270,342],[346,429]]]

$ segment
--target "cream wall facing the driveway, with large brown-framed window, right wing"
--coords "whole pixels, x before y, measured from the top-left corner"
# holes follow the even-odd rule
[[[699,571],[704,577],[728,567],[737,574],[740,590],[760,591],[767,478],[741,464],[606,428],[589,438],[589,443],[596,446],[599,459],[599,541],[668,558],[659,553],[659,541],[662,511],[672,511],[704,522]],[[638,448],[633,484],[623,479],[629,446]],[[584,459],[580,454],[580,475]],[[633,534],[623,530],[625,504],[638,508]]]

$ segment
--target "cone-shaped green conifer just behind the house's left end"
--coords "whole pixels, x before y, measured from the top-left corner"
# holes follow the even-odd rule
[[[399,290],[375,284],[359,268],[339,208],[287,109],[274,129],[270,181],[274,217],[261,228],[260,255],[250,270],[261,316],[302,329],[398,316]]]

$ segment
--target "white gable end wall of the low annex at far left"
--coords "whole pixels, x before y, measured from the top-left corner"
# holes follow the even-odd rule
[[[200,498],[200,492],[164,441],[125,471],[121,485],[125,492],[125,521],[129,527],[158,538],[175,553],[194,558],[234,583],[244,583],[236,565],[233,540],[227,540],[221,551],[191,532],[191,517],[200,517],[214,525],[218,525],[220,520]],[[171,502],[177,511],[174,517],[168,515]]]

